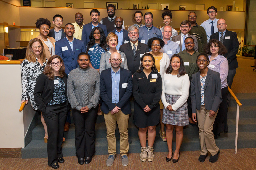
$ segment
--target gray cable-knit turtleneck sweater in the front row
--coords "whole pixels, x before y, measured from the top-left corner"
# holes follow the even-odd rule
[[[100,100],[99,72],[91,67],[72,70],[68,75],[67,97],[73,109],[95,108]]]

